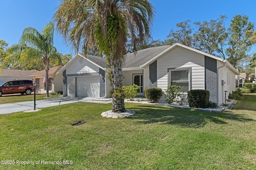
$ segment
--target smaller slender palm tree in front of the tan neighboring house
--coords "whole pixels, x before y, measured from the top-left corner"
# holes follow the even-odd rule
[[[50,69],[50,59],[61,60],[61,55],[53,46],[54,23],[48,23],[42,33],[33,27],[26,27],[23,30],[19,43],[12,45],[8,52],[13,54],[19,52],[18,60],[21,63],[40,61],[44,63],[46,72],[46,97],[49,97],[48,71]],[[14,55],[13,55],[14,56]]]

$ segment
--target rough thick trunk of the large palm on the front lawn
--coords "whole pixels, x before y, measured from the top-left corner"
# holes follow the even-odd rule
[[[114,59],[110,56],[110,85],[112,85],[112,111],[115,113],[122,113],[126,111],[124,106],[124,91],[122,90],[123,76],[123,61],[122,58]]]

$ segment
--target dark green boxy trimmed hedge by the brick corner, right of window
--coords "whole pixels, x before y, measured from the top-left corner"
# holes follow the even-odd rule
[[[190,107],[206,108],[209,106],[210,92],[208,90],[188,91],[188,104]]]

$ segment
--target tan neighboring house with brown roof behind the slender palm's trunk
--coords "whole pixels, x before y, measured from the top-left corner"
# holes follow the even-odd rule
[[[62,75],[56,74],[62,67],[63,66],[60,65],[60,66],[50,68],[48,72],[49,92],[58,92],[63,90]],[[44,76],[45,76],[45,70],[34,72],[29,76],[32,76],[33,80],[36,81],[36,90],[38,90],[38,92],[46,92],[46,83],[43,82]]]

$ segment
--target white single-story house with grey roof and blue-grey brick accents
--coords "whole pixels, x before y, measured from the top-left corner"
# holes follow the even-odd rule
[[[63,74],[63,95],[83,97],[109,96],[106,60],[101,57],[75,55],[58,74]],[[127,54],[124,67],[124,86],[137,84],[143,95],[145,88],[168,85],[210,91],[210,101],[225,103],[229,92],[235,91],[235,75],[239,72],[227,61],[202,51],[176,43],[152,47]]]

